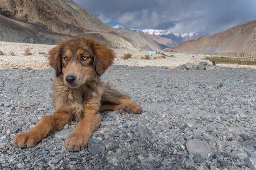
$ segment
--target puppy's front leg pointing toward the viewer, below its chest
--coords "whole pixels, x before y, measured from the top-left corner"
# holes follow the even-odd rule
[[[101,114],[98,113],[98,105],[87,104],[84,106],[84,118],[77,123],[75,130],[64,143],[68,151],[77,152],[87,146],[89,137],[92,136],[93,131],[97,130],[101,124]]]

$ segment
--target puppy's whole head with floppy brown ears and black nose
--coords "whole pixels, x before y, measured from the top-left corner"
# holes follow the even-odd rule
[[[66,86],[79,87],[91,76],[104,73],[114,59],[113,50],[89,37],[73,37],[49,51],[49,63],[56,77],[63,74]]]

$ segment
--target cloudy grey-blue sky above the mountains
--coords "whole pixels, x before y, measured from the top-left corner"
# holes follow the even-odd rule
[[[256,0],[73,0],[111,26],[217,33],[256,20]]]

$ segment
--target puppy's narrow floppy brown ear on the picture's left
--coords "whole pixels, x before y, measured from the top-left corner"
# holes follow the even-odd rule
[[[49,63],[55,69],[56,77],[62,73],[61,49],[60,45],[57,45],[49,51]]]

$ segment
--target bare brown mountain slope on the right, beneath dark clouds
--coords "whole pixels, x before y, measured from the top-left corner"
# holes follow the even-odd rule
[[[256,20],[236,25],[214,35],[180,43],[166,52],[213,54],[227,56],[256,56]]]

